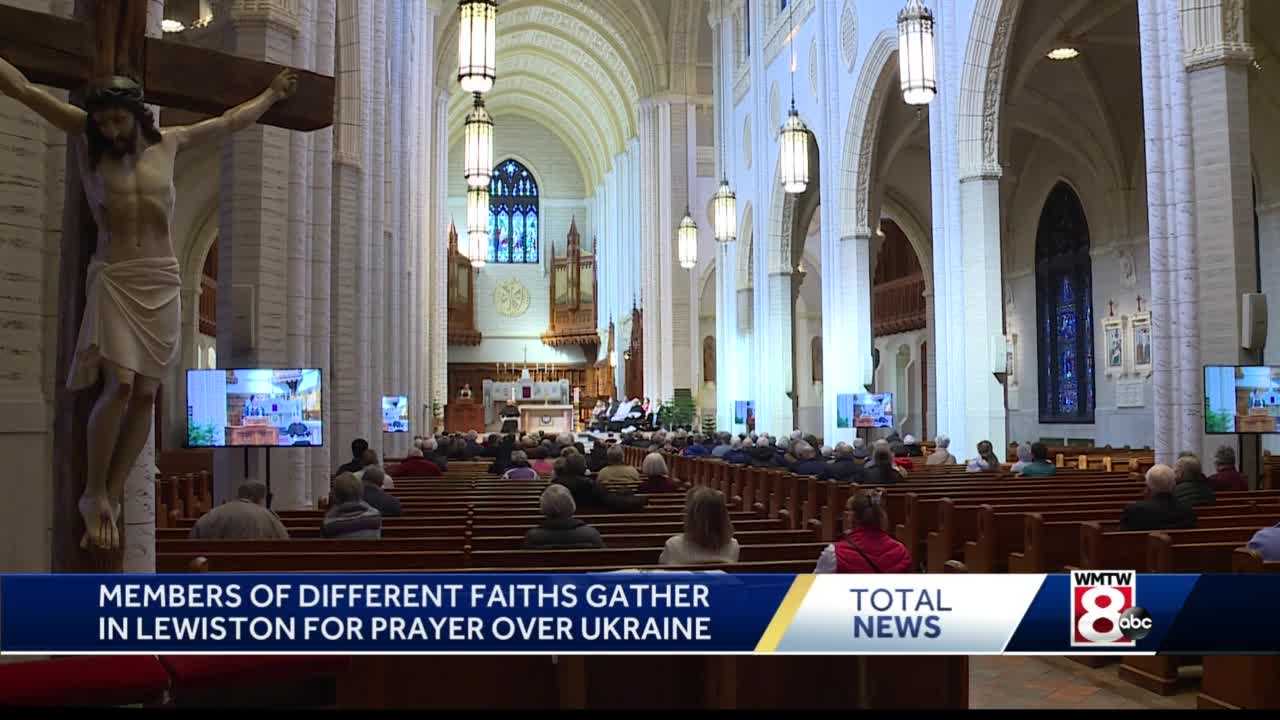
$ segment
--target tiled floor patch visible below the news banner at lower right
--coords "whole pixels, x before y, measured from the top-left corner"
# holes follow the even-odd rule
[[[1194,710],[1196,691],[1162,697],[1125,683],[1117,664],[1085,667],[1065,657],[972,657],[969,707]]]

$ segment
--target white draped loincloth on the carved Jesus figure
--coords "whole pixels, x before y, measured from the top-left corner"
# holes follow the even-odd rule
[[[84,319],[69,389],[93,386],[108,360],[152,379],[163,379],[178,356],[182,337],[182,273],[175,258],[138,258],[88,265]]]

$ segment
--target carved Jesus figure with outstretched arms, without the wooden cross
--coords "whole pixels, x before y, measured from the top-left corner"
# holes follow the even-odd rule
[[[183,147],[252,126],[293,95],[297,82],[296,73],[282,72],[261,95],[220,117],[160,129],[141,86],[127,77],[91,86],[81,109],[36,87],[0,58],[0,94],[70,136],[97,223],[84,319],[67,379],[70,389],[102,380],[88,420],[82,547],[119,547],[124,480],[146,445],[156,391],[178,355],[182,275],[170,236],[174,159]]]

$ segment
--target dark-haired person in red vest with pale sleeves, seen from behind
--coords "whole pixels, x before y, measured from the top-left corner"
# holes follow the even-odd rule
[[[864,489],[849,498],[845,527],[852,528],[828,544],[818,557],[814,573],[910,573],[911,552],[884,528],[884,491]]]

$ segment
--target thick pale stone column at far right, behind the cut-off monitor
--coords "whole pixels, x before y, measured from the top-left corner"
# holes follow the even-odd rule
[[[1185,323],[1188,333],[1178,345],[1181,365],[1175,416],[1181,428],[1175,450],[1202,448],[1202,457],[1208,457],[1222,438],[1203,436],[1201,365],[1260,360],[1243,351],[1239,341],[1240,295],[1258,291],[1249,156],[1253,49],[1245,42],[1242,3],[1197,3],[1181,13],[1176,3],[1166,9],[1169,42],[1185,33],[1181,58],[1172,58],[1170,83],[1178,131],[1172,190],[1181,249],[1175,270],[1179,277],[1197,278],[1198,292],[1179,302],[1178,322]]]

